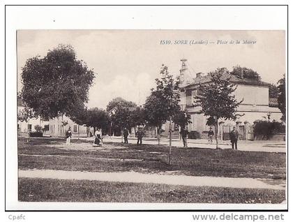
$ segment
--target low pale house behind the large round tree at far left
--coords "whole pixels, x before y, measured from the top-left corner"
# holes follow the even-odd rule
[[[21,99],[17,99],[17,113],[24,110],[24,103]],[[35,126],[39,125],[43,128],[43,135],[48,137],[64,137],[68,128],[71,128],[73,137],[87,137],[88,128],[87,126],[80,126],[72,121],[66,115],[60,115],[45,121],[38,118],[31,118],[27,121],[17,121],[17,131],[19,135],[27,135],[28,131],[34,132]]]

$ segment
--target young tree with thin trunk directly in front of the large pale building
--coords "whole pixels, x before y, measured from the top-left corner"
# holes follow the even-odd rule
[[[236,120],[239,116],[236,114],[237,108],[243,101],[236,101],[233,94],[236,85],[230,83],[230,78],[223,78],[223,74],[219,68],[209,73],[211,82],[200,84],[200,94],[195,96],[195,105],[202,108],[200,113],[209,117],[209,124],[215,125],[216,148],[218,148],[218,120],[221,118]]]

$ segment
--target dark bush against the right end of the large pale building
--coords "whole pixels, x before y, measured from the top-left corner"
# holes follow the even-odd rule
[[[253,124],[255,138],[269,140],[273,134],[285,133],[285,126],[278,121],[257,120]]]

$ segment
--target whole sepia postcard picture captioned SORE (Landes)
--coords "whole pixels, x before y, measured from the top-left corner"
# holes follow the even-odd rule
[[[285,31],[15,35],[18,202],[287,208]]]

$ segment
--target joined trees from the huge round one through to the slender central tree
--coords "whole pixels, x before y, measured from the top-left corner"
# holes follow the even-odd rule
[[[168,73],[167,66],[162,66],[160,74],[162,78],[156,79],[157,87],[151,90],[151,96],[142,107],[115,98],[107,105],[107,110],[87,109],[84,103],[88,101],[95,73],[84,61],[77,59],[73,47],[59,45],[43,58],[28,59],[22,68],[23,87],[18,97],[25,108],[19,112],[18,119],[50,119],[66,114],[80,125],[109,128],[113,124],[130,128],[148,124],[157,126],[160,134],[167,119],[174,117],[181,126],[188,121],[188,115],[180,112],[178,105],[178,82]]]

